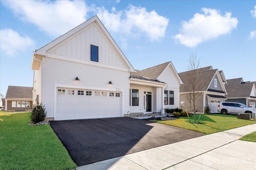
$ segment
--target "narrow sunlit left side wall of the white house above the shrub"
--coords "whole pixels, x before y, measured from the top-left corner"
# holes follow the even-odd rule
[[[42,65],[38,70],[34,70],[33,82],[33,104],[36,104],[36,96],[38,95],[38,102],[42,102]]]

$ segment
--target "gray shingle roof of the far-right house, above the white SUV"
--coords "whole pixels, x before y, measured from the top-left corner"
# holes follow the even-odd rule
[[[226,98],[248,98],[252,92],[253,83],[226,85]]]

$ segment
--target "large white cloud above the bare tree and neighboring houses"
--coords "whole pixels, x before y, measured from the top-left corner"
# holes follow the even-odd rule
[[[230,12],[224,16],[210,8],[202,8],[202,12],[204,14],[196,13],[194,18],[183,21],[180,33],[173,38],[187,47],[196,47],[204,41],[230,33],[238,24],[237,18],[231,17]]]

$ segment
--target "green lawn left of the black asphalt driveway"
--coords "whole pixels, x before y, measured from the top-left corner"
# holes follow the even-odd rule
[[[1,170],[67,170],[76,167],[50,125],[28,123],[28,113],[0,116]]]

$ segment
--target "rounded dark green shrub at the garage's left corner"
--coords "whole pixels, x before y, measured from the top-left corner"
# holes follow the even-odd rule
[[[46,113],[47,112],[45,111],[42,103],[36,103],[33,105],[32,111],[29,114],[30,121],[32,121],[34,124],[44,121],[46,118]]]

